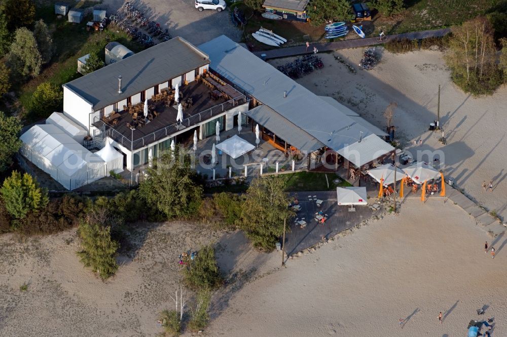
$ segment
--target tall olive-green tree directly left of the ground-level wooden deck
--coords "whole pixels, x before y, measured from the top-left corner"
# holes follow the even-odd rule
[[[294,216],[287,209],[291,199],[284,184],[282,177],[256,178],[246,191],[241,228],[257,248],[272,250],[283,233],[283,219]]]

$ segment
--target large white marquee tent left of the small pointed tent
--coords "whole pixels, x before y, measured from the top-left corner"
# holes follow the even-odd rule
[[[21,154],[68,190],[105,177],[105,161],[55,125],[34,125],[20,139]]]

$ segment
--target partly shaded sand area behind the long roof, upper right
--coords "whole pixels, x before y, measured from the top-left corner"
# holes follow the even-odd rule
[[[417,150],[442,150],[441,160],[446,176],[475,198],[480,204],[507,218],[507,87],[493,96],[474,98],[461,92],[450,81],[442,53],[419,51],[402,55],[384,52],[379,65],[371,71],[350,73],[334,56],[357,65],[363,49],[319,54],[324,63],[297,81],[317,95],[331,96],[370,122],[385,130],[383,112],[391,101],[398,103],[394,124],[396,138],[404,150],[417,158]],[[285,64],[288,59],[271,61]],[[440,115],[445,128],[447,145],[438,142],[440,133],[428,132],[429,123],[436,119],[438,86],[442,87]],[[423,140],[413,147],[412,140]],[[408,147],[407,147],[408,146]],[[422,160],[428,160],[428,156]],[[483,180],[493,180],[493,193],[482,192]]]

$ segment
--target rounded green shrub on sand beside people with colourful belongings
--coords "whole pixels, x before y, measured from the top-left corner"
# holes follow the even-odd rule
[[[188,259],[183,268],[185,283],[194,288],[215,288],[222,283],[219,267],[216,265],[212,245],[201,246],[196,259]]]

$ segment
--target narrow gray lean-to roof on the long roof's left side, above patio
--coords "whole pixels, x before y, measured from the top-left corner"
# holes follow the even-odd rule
[[[277,137],[303,152],[312,152],[324,147],[324,144],[310,136],[297,125],[276,113],[267,105],[260,105],[246,111],[248,117],[268,128]]]

